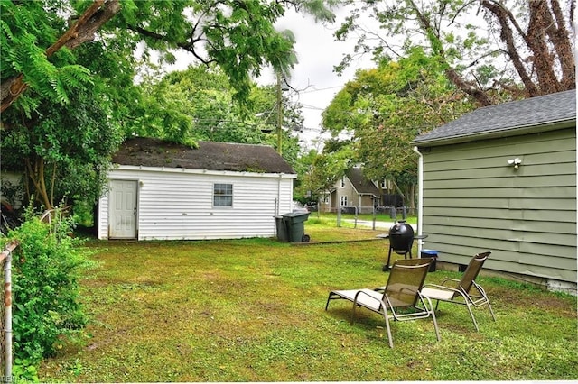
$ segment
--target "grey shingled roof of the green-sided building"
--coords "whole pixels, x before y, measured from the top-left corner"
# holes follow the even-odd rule
[[[547,127],[557,123],[575,124],[576,90],[527,98],[521,101],[490,105],[464,114],[414,139],[413,144],[425,145],[478,138],[490,134],[514,134],[531,127]],[[460,140],[461,139],[461,140]]]

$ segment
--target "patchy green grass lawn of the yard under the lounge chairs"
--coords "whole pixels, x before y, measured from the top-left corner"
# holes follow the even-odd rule
[[[369,230],[306,224],[314,240],[374,239]],[[82,293],[92,337],[42,364],[42,381],[365,381],[578,379],[576,297],[497,278],[475,312],[440,304],[430,319],[392,322],[335,288],[383,285],[387,241],[291,245],[270,239],[89,242],[98,267]],[[481,251],[481,250],[480,250]],[[428,282],[459,277],[436,271]]]

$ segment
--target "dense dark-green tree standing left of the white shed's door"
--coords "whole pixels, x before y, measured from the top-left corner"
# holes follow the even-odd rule
[[[26,201],[34,198],[46,209],[73,202],[91,206],[98,200],[110,157],[123,137],[121,124],[130,111],[126,103],[140,95],[132,85],[132,69],[123,66],[126,61],[110,60],[118,59],[115,50],[94,43],[75,54],[90,71],[116,76],[93,76],[96,84],[70,93],[64,105],[31,89],[29,96],[38,104],[32,111],[11,108],[2,114],[2,169],[22,171]]]

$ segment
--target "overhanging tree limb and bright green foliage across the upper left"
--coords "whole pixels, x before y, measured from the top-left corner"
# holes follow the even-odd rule
[[[95,39],[122,43],[144,55],[155,50],[173,62],[174,50],[186,50],[200,62],[218,64],[247,101],[250,77],[266,65],[283,71],[291,65],[293,42],[275,31],[285,7],[333,15],[322,0],[44,0],[3,1],[2,111],[31,87],[43,96],[67,101],[67,88],[89,82],[69,51]],[[329,1],[329,3],[332,3]],[[68,16],[65,18],[65,16]],[[70,27],[68,25],[71,25]],[[144,42],[144,46],[141,44]],[[132,51],[130,52],[132,53]],[[129,52],[127,52],[129,54]],[[23,105],[28,111],[33,99]]]

